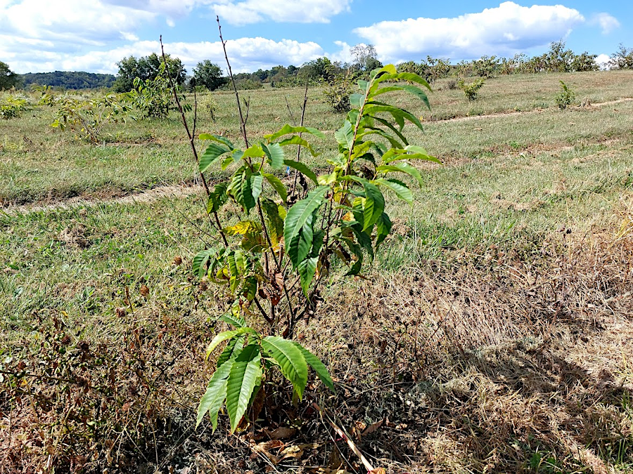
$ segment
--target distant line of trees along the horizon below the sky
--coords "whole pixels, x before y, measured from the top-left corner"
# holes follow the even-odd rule
[[[322,57],[305,62],[301,66],[278,65],[268,70],[241,72],[234,74],[234,79],[236,86],[241,89],[261,88],[264,84],[269,84],[271,87],[292,87],[305,85],[306,81],[313,85],[323,82],[331,83],[341,74],[357,77],[368,74],[375,67],[381,66],[376,49],[371,44],[354,46],[350,53],[353,56],[351,62],[331,61]],[[398,70],[416,72],[433,82],[435,79],[449,76],[494,77],[518,73],[594,71],[600,68],[596,57],[597,55],[586,51],[575,54],[565,48],[564,41],[555,41],[550,44],[549,51],[532,58],[528,58],[525,54],[517,54],[513,58],[498,58],[493,55],[452,64],[445,58],[427,56],[426,60],[420,62],[402,62],[398,65]],[[119,71],[114,76],[113,74],[65,71],[15,74],[5,62],[0,61],[0,90],[12,87],[29,88],[32,84],[37,84],[67,89],[103,87],[113,88],[117,92],[128,92],[134,89],[134,79],[137,77],[141,81],[156,79],[164,69],[162,62],[162,58],[156,53],[141,58],[129,56],[117,62]],[[222,74],[222,68],[210,60],[198,62],[191,76],[187,74],[179,58],[167,55],[167,66],[176,83],[184,88],[215,91],[232,87],[228,84],[228,78]],[[633,69],[633,48],[626,48],[620,44],[618,51],[610,56],[608,67]]]

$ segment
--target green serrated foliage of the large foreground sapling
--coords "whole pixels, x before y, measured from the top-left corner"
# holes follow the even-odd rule
[[[325,173],[286,158],[286,149],[296,146],[316,155],[307,141],[310,136],[325,138],[316,129],[285,125],[245,150],[226,137],[200,135],[208,143],[199,157],[200,173],[216,170],[217,178],[223,176],[219,169],[231,171],[208,192],[207,212],[218,224],[222,244],[201,251],[193,272],[224,289],[232,303],[221,319],[236,329],[215,336],[207,349],[209,355],[227,342],[200,402],[198,423],[209,412],[215,428],[225,403],[231,431],[236,430],[275,367],[292,384],[295,400],[305,390],[307,366],[333,390],[325,365],[288,338],[295,324],[314,310],[319,285],[326,282],[334,261],[347,267],[347,275],[360,275],[364,262],[390,234],[388,195],[383,193],[411,204],[407,179],[399,177],[422,183],[410,162],[437,162],[403,134],[406,122],[422,128],[416,115],[381,100],[383,93],[404,91],[428,107],[424,88],[430,90],[425,79],[397,72],[392,65],[359,80],[357,92],[348,96],[351,110],[334,133],[338,154],[327,159]],[[300,186],[278,177],[284,169],[293,170]],[[218,211],[229,201],[240,209],[237,222],[220,227]],[[268,324],[271,335],[248,327],[247,319]]]

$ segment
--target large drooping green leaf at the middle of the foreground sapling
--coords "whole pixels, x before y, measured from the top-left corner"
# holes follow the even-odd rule
[[[283,238],[286,242],[286,253],[290,256],[294,268],[307,257],[312,248],[314,213],[323,203],[328,189],[326,186],[316,187],[305,199],[288,210]]]

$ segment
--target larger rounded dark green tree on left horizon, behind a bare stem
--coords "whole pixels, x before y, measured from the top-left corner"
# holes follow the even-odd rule
[[[181,86],[187,77],[187,71],[181,60],[172,58],[170,55],[165,55],[165,58],[170,76],[176,84]],[[148,79],[153,81],[162,74],[162,71],[165,70],[165,61],[156,53],[151,53],[151,55],[143,56],[142,58],[135,58],[134,56],[123,58],[117,62],[117,66],[119,67],[119,72],[113,87],[116,92],[129,92],[134,89],[134,79],[136,77],[145,82]]]

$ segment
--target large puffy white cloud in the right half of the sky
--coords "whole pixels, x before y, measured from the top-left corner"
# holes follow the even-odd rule
[[[530,7],[506,1],[496,8],[456,18],[409,18],[354,29],[376,46],[378,58],[401,61],[427,54],[453,59],[513,55],[566,37],[584,22],[562,5]]]

